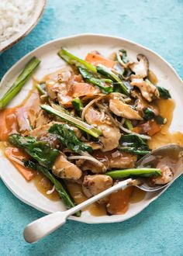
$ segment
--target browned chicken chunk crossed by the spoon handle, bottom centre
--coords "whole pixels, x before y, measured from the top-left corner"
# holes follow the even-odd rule
[[[85,175],[82,183],[82,190],[87,198],[111,188],[113,185],[112,178],[108,175]],[[98,203],[103,204],[109,201],[109,197],[105,196],[98,200]]]

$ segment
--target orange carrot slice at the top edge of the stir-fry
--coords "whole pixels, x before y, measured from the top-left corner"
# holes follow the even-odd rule
[[[85,61],[88,61],[95,66],[97,66],[98,64],[102,64],[105,67],[109,67],[109,68],[114,67],[114,64],[115,64],[115,61],[106,59],[102,55],[95,54],[95,53],[87,54],[87,57],[85,57]]]

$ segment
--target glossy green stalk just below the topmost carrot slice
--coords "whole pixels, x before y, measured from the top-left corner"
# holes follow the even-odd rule
[[[104,81],[108,81],[109,83],[112,83],[112,80],[110,79],[99,79],[99,78],[95,78],[91,73],[89,73],[85,68],[79,67],[78,68],[81,76],[85,79],[85,81],[87,81],[88,83],[91,83],[93,85],[97,85],[98,88],[100,88],[100,90],[103,93],[110,93],[112,92],[112,87],[111,86],[105,86]]]

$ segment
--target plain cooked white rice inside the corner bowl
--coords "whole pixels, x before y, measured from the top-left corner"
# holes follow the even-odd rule
[[[0,43],[22,29],[33,15],[36,0],[0,0]]]

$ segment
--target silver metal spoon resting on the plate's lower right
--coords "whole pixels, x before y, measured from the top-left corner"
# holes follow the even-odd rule
[[[180,147],[176,144],[170,144],[152,151],[150,154],[142,157],[140,161],[137,162],[136,166],[143,168],[148,164],[152,163],[152,161],[154,161],[154,159],[156,159],[157,157],[164,156],[174,156],[179,159],[178,164],[176,165],[176,170],[174,170],[174,179],[172,180],[172,182],[174,182],[174,180],[177,179],[183,171],[183,147]],[[27,242],[34,243],[37,240],[46,237],[54,230],[57,230],[58,227],[62,226],[66,222],[68,216],[73,215],[79,210],[85,208],[86,206],[89,206],[91,203],[98,201],[98,199],[102,199],[102,197],[109,195],[112,192],[116,192],[119,189],[126,189],[126,187],[128,186],[134,185],[146,192],[154,192],[159,189],[164,189],[166,186],[171,185],[172,182],[166,185],[150,186],[146,182],[145,178],[128,178],[122,182],[117,183],[116,185],[113,185],[112,188],[106,189],[98,195],[93,196],[91,199],[88,199],[85,202],[81,202],[78,206],[74,206],[73,208],[67,209],[64,212],[51,213],[47,216],[43,216],[42,218],[33,221],[32,223],[29,223],[29,225],[26,226],[23,232],[23,236]]]

